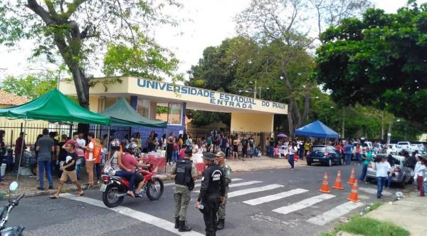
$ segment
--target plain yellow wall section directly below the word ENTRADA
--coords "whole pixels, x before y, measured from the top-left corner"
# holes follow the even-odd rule
[[[231,132],[273,132],[274,114],[231,113]]]

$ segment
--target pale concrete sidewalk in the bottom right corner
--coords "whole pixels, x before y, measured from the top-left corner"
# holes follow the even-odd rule
[[[401,200],[381,205],[365,216],[393,222],[408,230],[413,236],[427,235],[427,197],[417,197],[417,195],[411,192]]]

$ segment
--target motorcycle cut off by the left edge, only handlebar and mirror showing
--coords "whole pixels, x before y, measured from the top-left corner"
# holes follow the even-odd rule
[[[1,236],[21,236],[23,230],[25,229],[25,227],[23,227],[22,225],[18,225],[15,227],[4,227],[7,220],[9,220],[9,214],[14,209],[14,207],[17,207],[19,205],[19,201],[24,196],[23,194],[21,194],[18,197],[16,197],[16,199],[14,200],[10,199],[11,197],[10,193],[15,191],[18,187],[19,185],[15,181],[9,185],[9,204],[4,207],[0,207],[0,219],[1,219],[0,235]]]

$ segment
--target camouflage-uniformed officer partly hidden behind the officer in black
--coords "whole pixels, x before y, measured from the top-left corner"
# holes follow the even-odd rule
[[[226,195],[223,202],[219,205],[218,209],[218,223],[216,224],[217,230],[222,230],[224,228],[224,221],[226,220],[226,203],[228,197],[228,184],[231,183],[231,168],[226,165],[226,153],[218,152],[216,153],[216,163],[223,170],[224,178],[226,180]]]

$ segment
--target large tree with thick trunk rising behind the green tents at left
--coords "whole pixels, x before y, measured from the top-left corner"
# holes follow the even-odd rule
[[[33,56],[60,55],[70,70],[80,106],[88,108],[90,71],[97,56],[110,43],[136,45],[137,31],[149,32],[158,24],[176,24],[162,14],[174,0],[17,0],[0,3],[0,43],[16,46],[21,39],[36,44]]]

